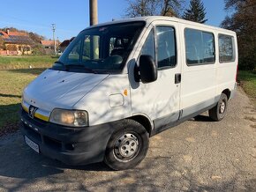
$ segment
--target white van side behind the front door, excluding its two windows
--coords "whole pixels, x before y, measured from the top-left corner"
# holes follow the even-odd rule
[[[186,47],[184,30],[191,28],[202,32],[212,33],[215,38],[215,62],[189,66],[186,61]],[[191,26],[181,24],[183,37],[182,47],[182,85],[181,85],[181,109],[182,118],[200,111],[203,108],[214,105],[221,93],[228,89],[234,92],[236,86],[237,59],[232,63],[220,63],[219,61],[219,33],[222,31],[213,30],[202,26]],[[237,41],[235,33],[227,33],[235,39],[235,50],[237,55]]]

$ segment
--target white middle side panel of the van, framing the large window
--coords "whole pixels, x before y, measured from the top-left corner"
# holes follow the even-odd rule
[[[186,47],[184,30],[192,28],[209,33],[208,30],[199,26],[181,24],[182,38],[182,85],[181,85],[181,109],[182,117],[200,111],[200,109],[213,105],[216,96],[216,65],[215,63],[191,65],[186,62]],[[215,44],[216,48],[216,44]]]

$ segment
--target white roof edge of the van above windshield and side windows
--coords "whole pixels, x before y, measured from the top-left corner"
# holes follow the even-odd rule
[[[95,25],[95,26],[90,26],[88,28],[94,28],[96,26],[106,26],[106,25],[111,25],[111,24],[126,23],[126,22],[134,22],[134,21],[146,21],[147,26],[149,26],[153,21],[156,21],[156,20],[167,20],[167,21],[174,21],[174,22],[182,23],[184,25],[189,25],[189,26],[200,26],[200,27],[211,29],[211,30],[222,31],[223,33],[235,33],[233,31],[223,29],[223,28],[220,28],[220,27],[208,26],[208,25],[205,25],[205,24],[200,24],[200,23],[197,23],[197,22],[192,22],[192,21],[189,21],[189,20],[181,19],[181,18],[167,17],[167,16],[147,16],[147,17],[137,17],[137,18],[124,18],[124,19],[118,19],[118,20],[98,24],[98,25]]]

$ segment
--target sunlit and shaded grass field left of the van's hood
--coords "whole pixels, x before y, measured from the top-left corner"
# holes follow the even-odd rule
[[[55,61],[51,56],[0,57],[0,136],[1,129],[19,127],[24,87]]]

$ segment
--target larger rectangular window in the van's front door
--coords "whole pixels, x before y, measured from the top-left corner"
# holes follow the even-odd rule
[[[158,69],[176,65],[176,42],[173,27],[156,26],[156,48]]]

